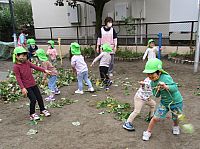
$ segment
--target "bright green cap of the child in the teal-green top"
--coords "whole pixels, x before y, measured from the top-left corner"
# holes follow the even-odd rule
[[[162,69],[162,61],[154,58],[154,59],[149,59],[145,65],[145,69],[143,73],[154,73],[157,70],[161,71],[162,73],[168,74],[166,71]]]

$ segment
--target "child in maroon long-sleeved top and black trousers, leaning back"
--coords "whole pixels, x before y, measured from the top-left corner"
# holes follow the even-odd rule
[[[17,82],[22,90],[22,94],[30,99],[30,120],[39,120],[40,117],[35,113],[36,101],[40,107],[40,114],[50,116],[50,113],[45,109],[40,90],[33,78],[32,69],[50,73],[41,67],[35,66],[27,60],[28,52],[23,47],[16,47],[13,54],[13,71]]]

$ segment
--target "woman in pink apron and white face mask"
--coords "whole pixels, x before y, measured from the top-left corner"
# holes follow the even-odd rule
[[[111,17],[105,18],[105,26],[101,28],[101,32],[98,35],[97,39],[97,53],[100,53],[102,50],[99,47],[105,43],[108,43],[112,47],[111,62],[109,66],[108,73],[110,76],[113,76],[113,65],[114,65],[114,54],[117,50],[117,33],[115,29],[112,27],[113,19]]]

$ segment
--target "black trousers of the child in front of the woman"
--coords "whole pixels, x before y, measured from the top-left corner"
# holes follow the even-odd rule
[[[108,69],[109,67],[106,67],[106,66],[99,67],[101,81],[103,81],[106,87],[109,86],[109,82],[110,82],[110,78],[108,77]]]

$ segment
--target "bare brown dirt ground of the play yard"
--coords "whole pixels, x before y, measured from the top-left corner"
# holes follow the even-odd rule
[[[66,61],[66,60],[65,60]],[[0,70],[11,68],[9,62],[0,62]],[[69,68],[69,62],[65,62]],[[90,62],[89,62],[90,63]],[[111,96],[121,102],[129,102],[133,106],[133,96],[138,87],[137,81],[142,80],[144,62],[116,62],[113,80],[129,78],[133,83],[131,94],[126,96],[121,86],[112,86],[110,91],[98,91],[93,94],[75,95],[76,83],[61,88],[61,95],[78,100],[77,103],[63,108],[51,108],[51,117],[45,118],[38,125],[30,125],[26,106],[28,99],[16,103],[0,103],[0,149],[200,149],[200,96],[194,91],[200,85],[200,73],[193,74],[192,65],[174,64],[164,61],[164,68],[171,74],[181,87],[184,97],[184,113],[193,124],[195,132],[182,133],[174,136],[171,133],[172,122],[169,119],[159,122],[149,142],[142,141],[142,133],[148,123],[144,121],[148,107],[144,107],[139,118],[134,121],[135,132],[122,128],[122,122],[113,118],[112,114],[100,115],[102,109],[96,109],[96,102]],[[5,65],[7,67],[5,67]],[[91,69],[91,68],[90,68]],[[98,67],[91,69],[98,76]],[[159,99],[156,99],[157,103]],[[23,107],[22,107],[23,105]],[[80,126],[72,125],[79,121]],[[28,136],[29,129],[37,129],[38,133]]]

